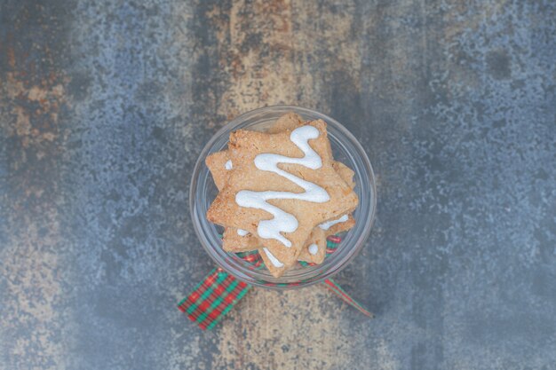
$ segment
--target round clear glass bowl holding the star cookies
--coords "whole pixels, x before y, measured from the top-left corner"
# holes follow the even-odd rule
[[[353,211],[355,226],[350,231],[340,234],[342,241],[338,249],[327,256],[322,264],[297,265],[284,272],[282,277],[274,278],[266,268],[257,268],[234,253],[228,253],[222,249],[220,235],[223,229],[216,224],[211,224],[206,219],[207,210],[210,203],[216,198],[218,190],[204,160],[209,154],[226,150],[230,132],[239,129],[266,130],[278,117],[288,112],[299,114],[307,121],[322,119],[327,122],[328,137],[334,159],[343,162],[355,172],[354,192],[359,197],[359,206]],[[377,189],[367,154],[357,139],[339,122],[325,114],[298,106],[266,106],[240,115],[210,138],[195,164],[189,193],[189,208],[195,232],[203,248],[218,266],[237,279],[254,286],[290,289],[306,287],[328,279],[341,271],[353,259],[369,237],[377,209]]]

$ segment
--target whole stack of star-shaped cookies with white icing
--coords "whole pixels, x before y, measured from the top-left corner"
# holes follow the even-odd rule
[[[326,122],[285,114],[266,132],[237,130],[210,154],[218,188],[207,219],[228,252],[258,249],[274,277],[297,261],[321,264],[326,238],[353,227],[353,170],[334,161]]]

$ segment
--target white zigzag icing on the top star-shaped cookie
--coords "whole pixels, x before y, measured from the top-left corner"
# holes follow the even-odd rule
[[[318,137],[319,130],[309,125],[302,126],[291,131],[290,134],[290,140],[305,154],[302,158],[286,157],[279,154],[258,154],[255,157],[255,166],[258,169],[274,172],[305,190],[304,193],[274,191],[253,192],[250,190],[242,190],[235,194],[235,202],[239,206],[252,209],[263,209],[274,216],[270,220],[262,220],[258,223],[257,232],[260,238],[275,239],[282,242],[287,248],[290,248],[291,241],[283,237],[281,232],[295,232],[298,229],[298,219],[295,216],[266,201],[271,199],[295,199],[299,201],[324,203],[330,200],[329,193],[321,186],[278,168],[278,163],[294,163],[308,169],[320,169],[322,167],[321,157],[309,146],[309,140]]]

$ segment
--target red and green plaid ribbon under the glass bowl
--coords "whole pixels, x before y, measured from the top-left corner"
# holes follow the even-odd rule
[[[340,240],[338,236],[330,236],[328,238],[327,255],[334,253],[338,248]],[[264,266],[262,258],[258,255],[257,251],[238,253],[237,256],[253,264],[255,268],[262,268]],[[300,264],[307,265],[307,263]],[[360,303],[357,303],[334,280],[325,279],[324,286],[328,287],[340,299],[365,316],[373,318],[371,312],[361,306]],[[211,329],[226,316],[227,312],[232,310],[232,307],[242,299],[243,295],[250,288],[249,284],[235,279],[234,276],[221,268],[214,268],[203,281],[197,284],[193,292],[178,304],[178,308],[187,315],[187,318],[195,322],[203,330]]]

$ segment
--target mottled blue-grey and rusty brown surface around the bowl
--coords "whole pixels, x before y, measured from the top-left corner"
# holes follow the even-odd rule
[[[1,369],[556,369],[556,3],[0,4]],[[344,122],[377,223],[212,332],[187,191],[250,109]]]

